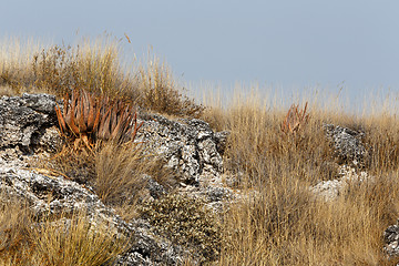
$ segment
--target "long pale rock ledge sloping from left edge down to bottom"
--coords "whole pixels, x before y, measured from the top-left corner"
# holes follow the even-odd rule
[[[27,202],[39,217],[83,209],[93,226],[106,224],[110,234],[130,237],[131,246],[119,258],[117,265],[176,265],[182,262],[183,248],[155,236],[145,221],[125,223],[93,192],[62,176],[3,165],[0,167],[0,188],[10,198]]]

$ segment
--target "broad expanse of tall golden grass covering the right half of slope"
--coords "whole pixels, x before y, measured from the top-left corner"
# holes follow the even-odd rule
[[[399,211],[396,117],[355,117],[309,104],[309,120],[295,135],[279,125],[286,111],[268,110],[255,94],[241,98],[223,115],[231,131],[226,171],[242,173],[238,186],[248,200],[224,217],[217,265],[395,265],[382,253],[382,232]],[[308,99],[306,99],[308,100]],[[308,187],[336,178],[321,123],[366,131],[374,181],[352,183],[339,200],[316,200]]]

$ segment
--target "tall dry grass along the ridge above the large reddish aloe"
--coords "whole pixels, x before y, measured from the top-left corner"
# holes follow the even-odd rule
[[[74,47],[22,44],[19,40],[0,43],[0,86],[11,88],[13,94],[63,96],[72,89],[84,89],[165,114],[198,116],[204,109],[185,96],[171,70],[156,57],[127,68],[121,60],[120,41],[112,37],[82,40]]]

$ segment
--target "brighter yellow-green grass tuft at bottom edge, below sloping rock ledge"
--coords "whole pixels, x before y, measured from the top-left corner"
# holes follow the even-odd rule
[[[113,235],[106,224],[90,225],[83,212],[70,219],[45,219],[31,237],[38,265],[112,265],[127,245],[127,239]]]

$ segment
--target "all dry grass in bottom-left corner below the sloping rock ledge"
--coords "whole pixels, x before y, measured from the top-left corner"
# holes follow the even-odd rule
[[[111,265],[129,239],[106,224],[90,225],[84,212],[37,221],[27,204],[1,195],[0,265]],[[57,222],[54,222],[57,221]]]

